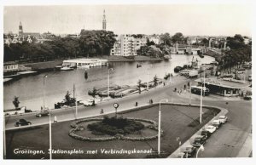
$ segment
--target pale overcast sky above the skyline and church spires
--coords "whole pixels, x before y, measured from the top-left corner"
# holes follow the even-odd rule
[[[104,9],[107,30],[116,34],[251,36],[253,24],[252,8],[244,4],[8,6],[3,31],[17,33],[20,21],[24,32],[101,30]]]

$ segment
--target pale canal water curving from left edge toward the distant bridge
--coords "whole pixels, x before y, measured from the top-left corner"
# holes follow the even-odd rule
[[[147,82],[147,72],[149,81],[156,75],[163,78],[166,73],[174,74],[177,65],[189,64],[192,58],[200,61],[201,64],[209,64],[214,58],[205,56],[200,58],[198,55],[172,54],[172,60],[167,61],[145,61],[145,62],[110,62],[108,66],[90,68],[88,79],[84,79],[84,69],[73,71],[49,71],[38,75],[22,77],[13,83],[3,85],[3,107],[4,109],[14,108],[13,100],[19,97],[20,106],[26,106],[32,111],[40,110],[44,100],[45,78],[45,105],[54,108],[54,104],[64,99],[67,91],[73,94],[73,84],[75,83],[78,100],[91,98],[88,90],[91,88],[102,88],[108,86],[108,68],[110,71],[111,85],[137,85],[139,79]],[[142,67],[137,68],[137,64]],[[175,75],[175,74],[174,74]]]

